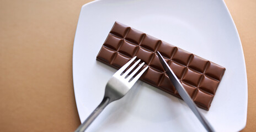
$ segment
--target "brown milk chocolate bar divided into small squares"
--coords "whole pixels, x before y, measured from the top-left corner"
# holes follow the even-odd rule
[[[209,110],[225,72],[225,68],[220,65],[117,22],[106,38],[97,60],[119,69],[137,56],[149,66],[141,77],[142,81],[181,98],[159,62],[156,51],[166,59],[196,105]]]

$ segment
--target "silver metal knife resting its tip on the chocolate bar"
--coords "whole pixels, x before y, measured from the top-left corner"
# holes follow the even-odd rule
[[[164,70],[166,70],[166,73],[170,81],[172,81],[174,87],[176,88],[180,97],[182,97],[186,105],[188,105],[189,108],[194,112],[195,116],[200,120],[200,122],[202,123],[202,125],[204,125],[207,131],[215,131],[214,128],[212,128],[211,124],[207,121],[207,119],[202,115],[202,113],[199,112],[198,107],[196,107],[194,101],[190,98],[188,92],[186,92],[177,76],[173,73],[172,69],[170,69],[166,61],[164,61],[164,58],[161,55],[161,53],[157,51],[157,55],[161,64],[163,65]]]

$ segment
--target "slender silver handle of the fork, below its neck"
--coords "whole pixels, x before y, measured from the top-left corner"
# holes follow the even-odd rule
[[[93,120],[98,117],[100,112],[102,112],[102,110],[109,104],[109,100],[109,97],[104,97],[99,106],[94,109],[93,113],[91,113],[90,116],[86,120],[84,120],[84,122],[74,132],[85,131],[93,122]]]

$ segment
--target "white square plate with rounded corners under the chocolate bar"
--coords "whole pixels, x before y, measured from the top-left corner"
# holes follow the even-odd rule
[[[73,48],[73,81],[81,122],[104,95],[116,71],[96,61],[115,21],[226,67],[211,103],[200,111],[217,131],[246,125],[247,76],[236,26],[223,1],[105,0],[83,5]],[[139,82],[111,103],[88,131],[205,131],[182,100]]]

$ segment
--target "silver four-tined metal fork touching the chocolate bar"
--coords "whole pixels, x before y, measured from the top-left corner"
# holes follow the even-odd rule
[[[90,114],[90,116],[76,129],[75,132],[85,131],[89,125],[93,122],[95,118],[98,117],[100,112],[111,102],[119,100],[124,97],[127,92],[131,89],[131,87],[136,83],[136,81],[141,77],[141,75],[148,68],[145,67],[140,73],[138,73],[134,78],[132,78],[138,70],[145,64],[145,62],[141,63],[130,75],[128,75],[132,69],[136,67],[136,65],[141,61],[138,59],[129,69],[124,70],[129,67],[129,65],[135,60],[136,56],[132,58],[129,62],[127,62],[124,66],[122,66],[108,81],[105,87],[105,95],[102,102],[99,104],[97,108]]]

